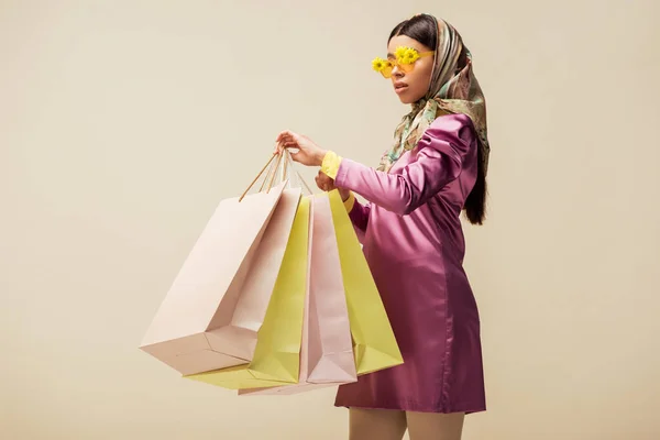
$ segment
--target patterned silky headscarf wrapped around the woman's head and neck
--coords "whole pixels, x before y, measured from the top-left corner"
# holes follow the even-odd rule
[[[429,15],[430,16],[430,15]],[[461,35],[444,20],[432,18],[438,38],[431,82],[427,95],[413,105],[413,111],[398,124],[394,144],[381,158],[380,170],[388,172],[406,151],[415,148],[426,129],[443,114],[468,116],[479,135],[481,166],[488,168],[491,146],[487,138],[486,103],[479,81],[472,72],[472,55]]]

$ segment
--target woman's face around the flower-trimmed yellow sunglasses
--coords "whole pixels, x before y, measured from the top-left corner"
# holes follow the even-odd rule
[[[394,54],[397,47],[411,47],[420,54],[433,51],[406,35],[397,35],[389,41],[387,45],[387,58],[395,59]],[[426,56],[417,59],[414,68],[409,73],[403,72],[399,67],[392,70],[392,85],[394,91],[398,95],[403,103],[414,103],[425,97],[431,82],[431,73],[433,70],[433,56]]]

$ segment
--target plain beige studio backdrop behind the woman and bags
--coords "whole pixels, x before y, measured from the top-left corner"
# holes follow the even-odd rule
[[[0,438],[345,438],[333,391],[237,398],[138,345],[279,130],[377,163],[406,108],[370,62],[420,11],[488,100],[464,438],[660,438],[659,6],[604,4],[0,1]]]

